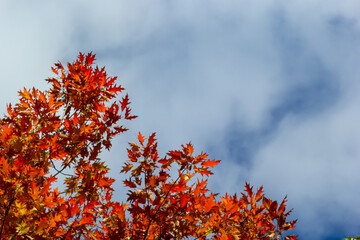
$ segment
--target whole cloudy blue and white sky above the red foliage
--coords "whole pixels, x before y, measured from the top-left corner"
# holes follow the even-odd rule
[[[0,29],[1,113],[79,51],[119,77],[139,118],[104,153],[118,180],[155,131],[222,160],[215,192],[287,195],[300,239],[360,235],[360,1],[1,0]]]

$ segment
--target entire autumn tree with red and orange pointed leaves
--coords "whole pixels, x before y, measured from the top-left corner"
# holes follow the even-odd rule
[[[207,177],[220,161],[191,144],[160,158],[155,133],[129,143],[127,203],[115,201],[99,154],[136,116],[94,60],[80,53],[67,68],[55,64],[49,90],[24,88],[0,119],[0,239],[297,239],[284,236],[296,223],[286,199],[248,183],[241,196],[218,198]]]

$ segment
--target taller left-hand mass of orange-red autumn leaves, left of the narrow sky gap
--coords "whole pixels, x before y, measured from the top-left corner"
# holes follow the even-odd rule
[[[127,95],[115,100],[123,91],[116,78],[94,60],[89,53],[67,69],[55,64],[49,90],[24,88],[0,119],[1,239],[94,238],[117,206],[99,154],[126,131],[119,120],[135,116]],[[53,186],[59,175],[63,192]]]

